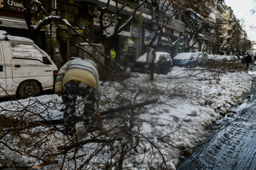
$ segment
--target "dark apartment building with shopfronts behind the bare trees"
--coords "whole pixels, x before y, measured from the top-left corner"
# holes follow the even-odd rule
[[[112,18],[113,14],[116,13],[117,6],[123,6],[134,2],[134,0],[118,0],[110,1],[108,8],[106,9],[107,0],[77,0],[74,3],[66,0],[40,0],[42,5],[45,6],[46,10],[50,14],[69,16],[73,14],[74,18],[70,21],[85,38],[90,42],[100,43],[102,34],[100,20],[103,21],[103,25],[106,26],[111,23],[105,31],[106,34],[111,34],[114,31],[116,24]],[[26,22],[22,14],[23,6],[18,0],[11,1],[0,1],[0,29],[6,30],[8,33],[18,36],[30,38],[30,32],[26,27]],[[133,14],[133,10],[130,7],[126,7],[122,10],[119,16],[122,18],[130,18]],[[150,40],[157,33],[157,19],[154,11],[154,6],[151,0],[147,0],[146,3],[139,8],[136,13],[136,19],[130,22],[117,36],[110,39],[111,41],[102,42],[106,50],[110,47],[114,47],[117,58],[125,60],[127,63],[133,63],[142,53],[146,52],[147,45]],[[100,16],[101,12],[104,11],[104,15]],[[209,6],[208,8],[198,9],[198,11],[188,10],[191,18],[197,16],[209,22],[220,22],[222,20],[221,14],[226,11],[223,1],[216,1],[216,6]],[[71,16],[71,15],[70,15]],[[207,16],[207,17],[206,17]],[[117,19],[117,18],[115,18]],[[113,22],[114,21],[114,22]],[[160,21],[163,22],[163,21]],[[71,33],[65,26],[49,26],[47,30],[42,30],[36,42],[42,49],[48,51],[54,60],[61,60],[66,55],[74,56],[78,55],[74,46],[69,42],[62,41],[56,32],[58,29],[66,29],[67,32]],[[190,29],[186,26],[185,22],[182,21],[181,14],[174,14],[172,18],[168,20],[165,26],[162,27],[161,33],[154,41],[155,49],[158,51],[164,51],[171,54],[174,57],[177,53],[186,51],[188,48],[187,40],[178,41],[178,43],[172,43],[178,40],[178,38],[188,36]],[[211,49],[212,31],[202,31],[198,33],[198,42],[190,49],[190,51],[202,51],[210,53]],[[49,38],[54,38],[57,41],[57,45],[50,47],[47,45]],[[191,39],[190,41],[193,41]],[[53,48],[53,49],[51,49]],[[108,51],[106,51],[108,53]]]

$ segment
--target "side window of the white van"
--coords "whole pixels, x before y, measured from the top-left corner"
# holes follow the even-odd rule
[[[11,43],[13,56],[16,58],[26,58],[42,61],[44,54],[34,45]]]

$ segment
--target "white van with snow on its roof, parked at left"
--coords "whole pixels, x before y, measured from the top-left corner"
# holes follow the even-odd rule
[[[57,66],[32,40],[0,30],[0,97],[37,96],[54,88],[57,75]]]

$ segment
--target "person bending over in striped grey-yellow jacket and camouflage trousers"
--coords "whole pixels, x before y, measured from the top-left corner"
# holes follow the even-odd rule
[[[67,61],[58,71],[55,82],[55,93],[62,96],[65,103],[64,133],[73,135],[75,132],[77,97],[84,103],[82,119],[85,125],[96,120],[100,104],[101,88],[99,85],[97,65],[89,59],[75,57]]]

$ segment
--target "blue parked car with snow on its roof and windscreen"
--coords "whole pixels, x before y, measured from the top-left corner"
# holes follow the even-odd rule
[[[194,68],[198,66],[195,53],[178,53],[173,59],[174,66]]]

